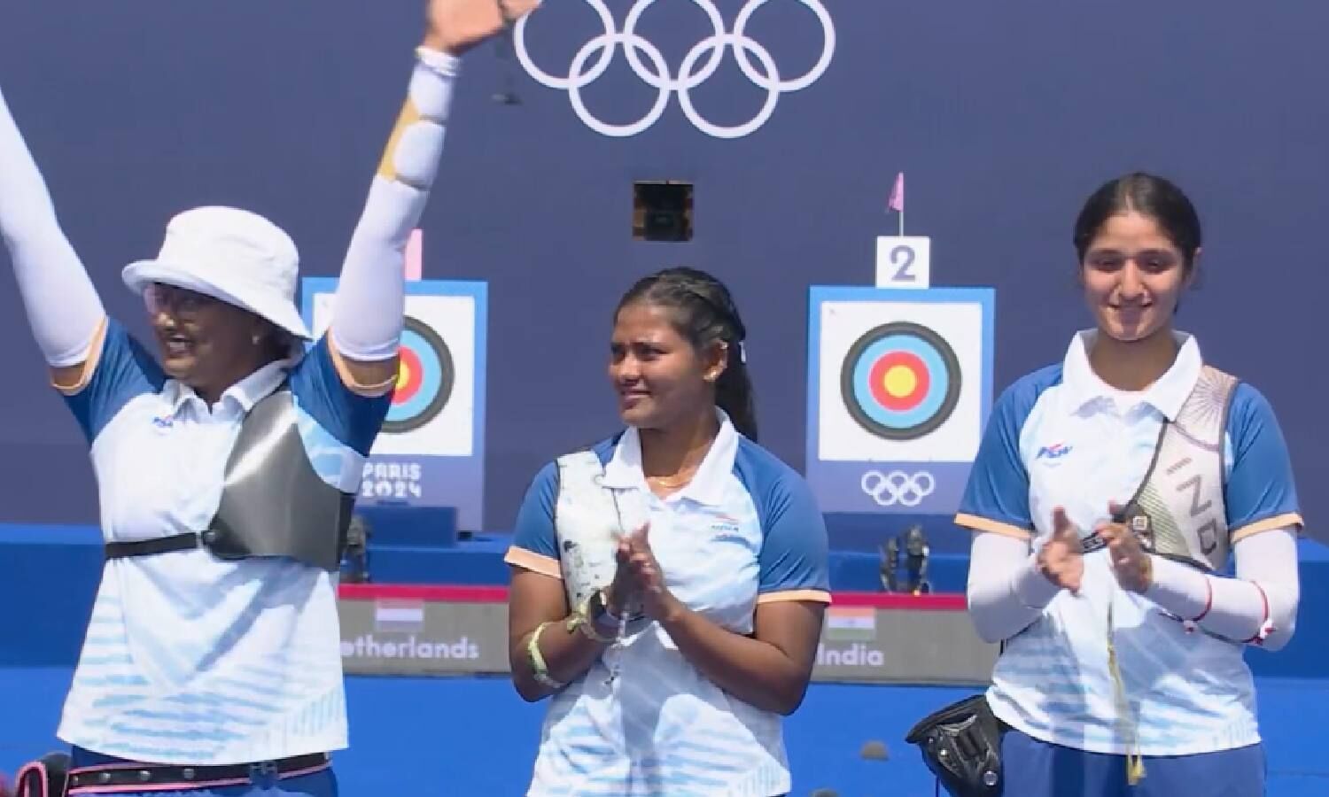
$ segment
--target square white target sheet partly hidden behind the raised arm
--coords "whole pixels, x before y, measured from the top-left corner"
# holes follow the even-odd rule
[[[314,333],[332,316],[314,298]],[[472,296],[408,295],[392,406],[371,454],[469,457],[474,428],[476,303]]]

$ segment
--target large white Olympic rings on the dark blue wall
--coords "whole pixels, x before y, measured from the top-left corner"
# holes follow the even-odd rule
[[[560,89],[567,92],[567,98],[571,102],[573,110],[581,117],[582,122],[587,128],[595,130],[601,135],[610,135],[615,138],[637,135],[638,133],[646,130],[654,125],[664,114],[664,109],[668,106],[670,96],[678,94],[678,104],[683,109],[683,114],[688,118],[692,125],[706,133],[707,135],[714,135],[715,138],[742,138],[748,135],[762,125],[764,125],[771,116],[775,113],[775,105],[780,100],[780,94],[788,92],[797,92],[805,89],[827,70],[831,64],[831,56],[835,53],[835,24],[831,21],[831,15],[827,12],[825,7],[821,5],[821,0],[799,0],[803,5],[808,7],[812,13],[816,15],[817,20],[821,23],[821,57],[805,74],[792,80],[781,80],[780,72],[775,65],[775,58],[771,53],[762,46],[755,39],[747,36],[747,25],[752,19],[752,13],[766,5],[769,0],[748,0],[743,9],[739,11],[738,19],[734,21],[734,32],[730,33],[724,29],[724,20],[720,17],[719,9],[715,7],[712,0],[692,0],[698,8],[700,8],[711,23],[711,36],[707,36],[702,41],[696,43],[692,49],[687,52],[683,57],[683,62],[679,65],[678,77],[670,73],[670,66],[664,61],[664,56],[661,54],[659,48],[647,41],[645,37],[637,33],[637,24],[642,17],[642,13],[655,3],[655,0],[637,0],[633,4],[631,11],[627,12],[627,20],[623,23],[623,29],[618,31],[614,21],[614,15],[609,11],[605,0],[586,0],[597,15],[599,15],[601,24],[605,27],[605,32],[599,36],[594,36],[590,41],[583,44],[577,54],[573,56],[571,65],[567,68],[567,77],[556,77],[536,66],[534,61],[530,58],[530,53],[526,52],[526,21],[529,16],[522,17],[513,32],[514,49],[517,50],[517,58],[521,65],[526,69],[537,82],[549,86],[550,89]],[[639,77],[646,85],[655,89],[658,96],[655,97],[655,104],[651,106],[646,116],[626,125],[614,125],[597,118],[587,108],[582,100],[582,89],[595,82],[605,70],[609,69],[610,61],[614,58],[614,52],[618,46],[623,46],[623,54],[627,57],[627,64],[631,66],[633,72]],[[703,117],[696,106],[692,105],[692,97],[690,92],[696,86],[702,85],[708,80],[715,70],[720,66],[720,58],[724,57],[726,48],[734,50],[734,57],[739,64],[739,69],[743,74],[752,81],[759,89],[766,90],[766,102],[762,105],[762,110],[756,113],[750,121],[742,125],[724,126],[716,125]],[[595,57],[595,62],[587,68],[587,62],[591,56],[599,53]],[[647,69],[642,62],[641,53],[646,53],[646,57],[651,62],[651,69]],[[704,57],[704,62],[702,62]],[[752,57],[756,57],[762,64],[760,72],[752,64]],[[700,62],[700,66],[698,65]]]

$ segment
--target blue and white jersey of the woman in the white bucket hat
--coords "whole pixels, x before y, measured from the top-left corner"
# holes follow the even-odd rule
[[[246,412],[288,381],[310,461],[358,490],[388,409],[343,387],[320,340],[211,408],[108,321],[66,398],[92,446],[108,542],[207,529]],[[235,764],[347,745],[335,583],[290,559],[202,549],[106,563],[58,735],[137,761]]]

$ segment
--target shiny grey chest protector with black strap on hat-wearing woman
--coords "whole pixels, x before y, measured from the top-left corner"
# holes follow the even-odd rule
[[[336,573],[355,494],[314,470],[291,391],[259,400],[241,422],[217,515],[205,531],[106,543],[106,558],[206,547],[219,559],[287,558]]]

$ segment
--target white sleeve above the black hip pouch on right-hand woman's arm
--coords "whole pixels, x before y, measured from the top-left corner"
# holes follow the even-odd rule
[[[1061,592],[1035,565],[1029,541],[978,531],[969,551],[969,616],[983,642],[1027,628]]]

